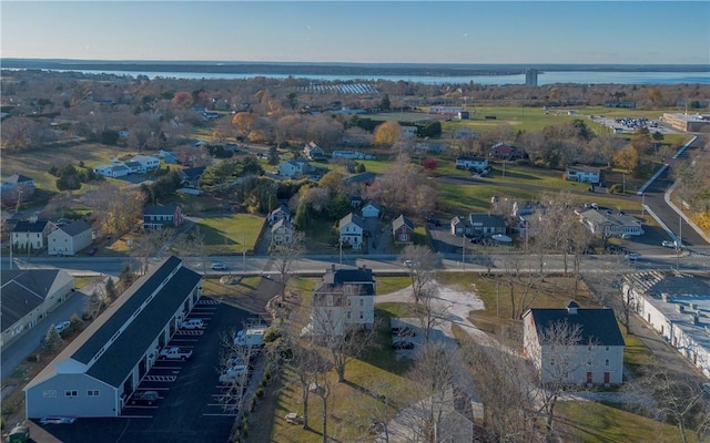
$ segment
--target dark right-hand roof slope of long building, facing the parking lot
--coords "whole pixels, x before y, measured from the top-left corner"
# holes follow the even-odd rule
[[[91,365],[87,374],[120,388],[131,369],[138,364],[201,278],[199,274],[187,268],[180,268],[141,313],[131,320],[131,324],[121,332],[111,347]]]

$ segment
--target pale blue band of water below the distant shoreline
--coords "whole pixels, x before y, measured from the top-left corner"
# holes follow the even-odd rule
[[[190,79],[190,80],[237,80],[265,76],[271,79],[287,79],[290,76],[310,79],[312,81],[374,81],[388,80],[393,82],[406,81],[423,84],[476,83],[484,85],[525,84],[525,74],[515,75],[288,75],[260,73],[206,73],[206,72],[152,72],[152,71],[104,71],[104,70],[52,70],[57,72],[83,72],[87,74],[113,75],[146,75],[149,79]],[[540,71],[538,85],[556,83],[579,84],[710,84],[710,72],[601,72],[601,71]]]

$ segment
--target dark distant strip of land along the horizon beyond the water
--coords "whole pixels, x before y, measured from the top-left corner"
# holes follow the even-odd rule
[[[540,73],[555,71],[710,73],[710,65],[704,64],[424,64],[0,59],[0,66],[27,70],[110,70],[266,75],[516,75],[525,73],[528,69],[536,69]]]

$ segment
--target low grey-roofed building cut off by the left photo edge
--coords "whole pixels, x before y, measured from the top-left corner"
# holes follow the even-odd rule
[[[62,269],[2,269],[0,278],[2,349],[34,328],[74,290],[74,278]]]

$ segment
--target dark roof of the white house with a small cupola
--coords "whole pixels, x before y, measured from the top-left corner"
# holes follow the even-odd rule
[[[542,331],[559,321],[581,327],[580,344],[623,346],[623,337],[611,309],[578,308],[577,313],[567,309],[530,309],[538,338]]]

